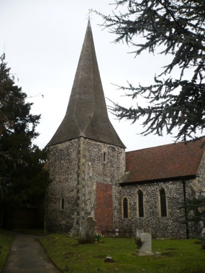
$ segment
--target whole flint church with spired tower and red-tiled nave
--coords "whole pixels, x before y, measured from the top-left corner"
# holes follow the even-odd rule
[[[150,229],[188,238],[189,197],[205,196],[203,140],[125,152],[114,130],[88,22],[66,115],[49,148],[51,183],[45,230],[77,234],[88,216],[96,229]]]

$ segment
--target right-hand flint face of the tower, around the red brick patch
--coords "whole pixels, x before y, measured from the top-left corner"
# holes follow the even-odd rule
[[[107,153],[107,162],[103,161],[103,153]],[[85,192],[84,192],[84,216],[92,216],[96,219],[103,217],[98,207],[106,204],[106,195],[104,200],[96,197],[96,186],[100,184],[112,185],[112,200],[113,200],[113,220],[115,221],[116,215],[116,197],[118,197],[119,182],[122,177],[125,176],[125,149],[120,148],[112,144],[98,142],[90,139],[85,139],[84,143],[84,154],[85,154]],[[102,187],[102,185],[101,185]],[[109,187],[106,187],[107,191]],[[99,193],[98,193],[99,194]],[[101,196],[101,198],[103,198]],[[101,202],[101,204],[99,204]],[[106,214],[107,211],[104,211]],[[111,214],[110,214],[111,216]],[[107,218],[108,219],[108,218]],[[106,220],[106,219],[104,219]],[[103,226],[110,226],[110,220],[104,221]],[[101,224],[100,224],[101,225]],[[114,222],[113,222],[114,225]]]

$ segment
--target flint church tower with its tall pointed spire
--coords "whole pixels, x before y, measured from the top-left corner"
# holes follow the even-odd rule
[[[79,229],[88,216],[99,229],[117,227],[125,145],[108,117],[90,22],[66,115],[47,146],[52,180],[46,195],[47,232]]]

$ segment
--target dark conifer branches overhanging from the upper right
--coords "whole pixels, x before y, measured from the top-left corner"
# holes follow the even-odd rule
[[[142,51],[172,56],[156,75],[151,86],[134,87],[128,82],[128,96],[143,96],[148,107],[125,108],[114,102],[111,110],[119,118],[135,122],[144,117],[143,135],[168,134],[177,128],[176,140],[196,138],[205,125],[205,2],[203,0],[117,0],[111,15],[104,15],[103,26],[120,41]],[[127,5],[127,12],[120,12]],[[117,12],[119,11],[119,12]],[[139,38],[142,36],[141,38]],[[173,71],[179,71],[174,78]],[[188,73],[189,72],[189,73]],[[191,76],[190,76],[191,73]],[[202,135],[200,138],[204,137]]]

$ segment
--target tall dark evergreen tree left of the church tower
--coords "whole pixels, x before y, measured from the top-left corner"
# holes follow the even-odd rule
[[[10,68],[0,64],[0,214],[11,208],[33,206],[49,183],[46,152],[32,140],[40,115],[30,113],[32,103],[14,83]]]

